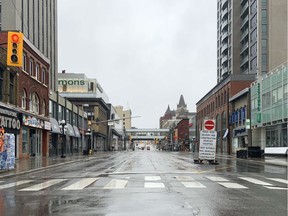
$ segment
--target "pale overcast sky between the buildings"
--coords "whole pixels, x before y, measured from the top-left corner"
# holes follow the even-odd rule
[[[59,0],[59,71],[96,78],[132,126],[158,128],[216,85],[216,0]]]

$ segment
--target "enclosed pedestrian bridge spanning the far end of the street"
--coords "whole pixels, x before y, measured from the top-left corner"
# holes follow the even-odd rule
[[[162,140],[169,134],[169,129],[126,129],[131,140]]]

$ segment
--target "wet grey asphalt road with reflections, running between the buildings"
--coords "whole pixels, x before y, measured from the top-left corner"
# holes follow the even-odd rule
[[[191,152],[96,153],[0,180],[0,215],[287,215],[287,167]]]

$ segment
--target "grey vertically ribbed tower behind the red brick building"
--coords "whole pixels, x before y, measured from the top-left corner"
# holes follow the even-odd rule
[[[21,31],[50,61],[49,88],[57,91],[57,0],[0,0],[0,31]]]

